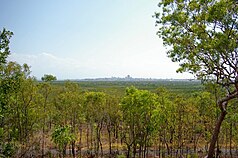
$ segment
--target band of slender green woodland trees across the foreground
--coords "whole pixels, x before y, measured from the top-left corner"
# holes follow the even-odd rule
[[[0,152],[5,157],[54,154],[73,157],[205,155],[219,115],[222,91],[206,85],[183,95],[126,88],[122,97],[84,91],[77,83],[52,84],[30,76],[29,67],[8,62],[0,82]],[[217,155],[237,154],[238,115],[231,102]]]

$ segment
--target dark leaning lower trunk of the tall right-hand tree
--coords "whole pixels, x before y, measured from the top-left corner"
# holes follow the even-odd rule
[[[222,110],[221,114],[216,122],[216,126],[213,131],[213,136],[212,136],[212,139],[210,142],[207,158],[213,158],[213,156],[214,156],[216,141],[217,141],[218,135],[220,133],[221,124],[222,124],[223,120],[225,119],[226,114],[227,114],[227,112],[225,110]]]

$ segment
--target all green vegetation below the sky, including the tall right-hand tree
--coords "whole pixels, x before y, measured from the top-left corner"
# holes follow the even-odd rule
[[[162,0],[154,18],[187,82],[56,82],[7,61],[0,32],[0,157],[237,157],[238,4]]]

